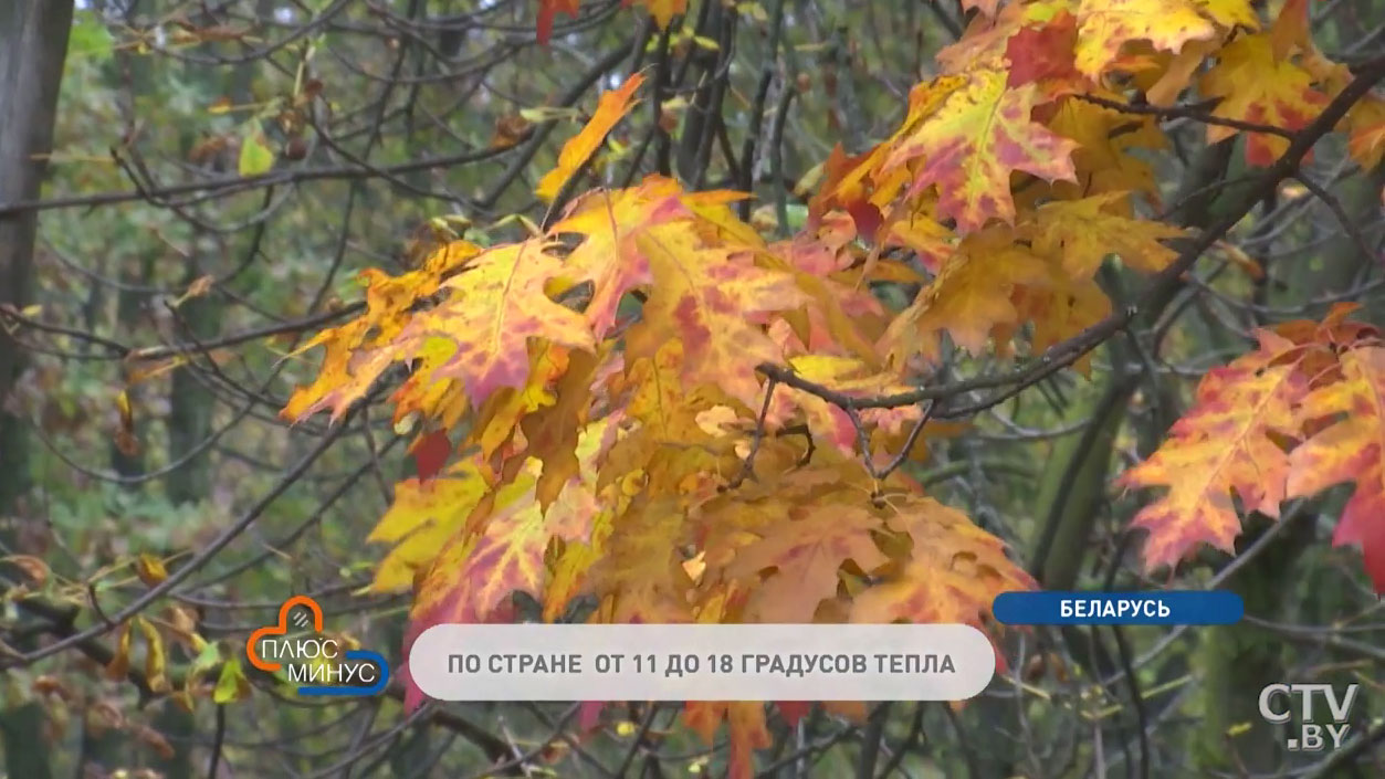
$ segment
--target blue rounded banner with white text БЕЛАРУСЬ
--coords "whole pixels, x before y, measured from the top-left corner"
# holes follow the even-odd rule
[[[1245,603],[1226,589],[1003,592],[992,605],[1007,625],[1230,625]]]

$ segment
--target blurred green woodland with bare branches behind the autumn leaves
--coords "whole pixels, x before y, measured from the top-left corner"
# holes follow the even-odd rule
[[[801,224],[832,147],[859,152],[892,131],[967,24],[954,1],[691,0],[661,32],[644,7],[587,0],[540,46],[537,8],[0,3],[0,653],[55,648],[0,660],[4,776],[720,775],[726,744],[701,742],[673,706],[608,711],[579,737],[571,706],[406,715],[397,688],[285,697],[235,660],[298,592],[324,605],[328,630],[402,660],[407,592],[359,591],[384,553],[366,534],[413,473],[406,437],[368,407],[334,439],[324,421],[278,418],[316,360],[285,356],[360,310],[357,271],[400,273],[461,234],[524,235],[544,217],[532,192],[561,141],[636,71],[663,102],[616,130],[580,188],[663,170],[753,191],[769,232]],[[1382,0],[1312,14],[1335,59],[1385,51]],[[1205,224],[1244,173],[1238,141],[1165,126],[1179,127],[1174,148],[1148,158],[1166,199],[1198,195],[1172,220]],[[1158,356],[1112,342],[1091,381],[1060,376],[981,415],[915,476],[1012,541],[1050,588],[1165,584],[1123,562],[1136,504],[1108,476],[1154,450],[1251,328],[1337,300],[1382,321],[1381,267],[1363,252],[1379,252],[1385,172],[1360,170],[1343,145],[1324,141],[1310,166],[1338,208],[1292,181],[1266,198],[1226,252],[1240,260],[1204,267],[1148,322]],[[1138,358],[1138,375],[1108,369]],[[1324,541],[1339,502],[1252,520],[1234,562],[1206,553],[1186,573],[1183,587],[1244,595],[1235,628],[1035,631],[1017,636],[1028,661],[970,706],[776,721],[760,769],[1382,776],[1370,747],[1385,613],[1359,552]],[[104,621],[123,627],[66,638]],[[1361,682],[1366,743],[1284,754],[1256,699],[1266,681],[1299,678]]]

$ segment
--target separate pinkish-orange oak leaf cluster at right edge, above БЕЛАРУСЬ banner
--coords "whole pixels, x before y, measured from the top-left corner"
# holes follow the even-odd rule
[[[1260,331],[1259,349],[1216,368],[1197,404],[1127,486],[1169,491],[1134,517],[1150,530],[1145,559],[1176,565],[1198,544],[1233,551],[1242,511],[1280,516],[1289,498],[1355,483],[1332,542],[1360,545],[1385,592],[1385,343],[1335,306],[1321,322]]]

